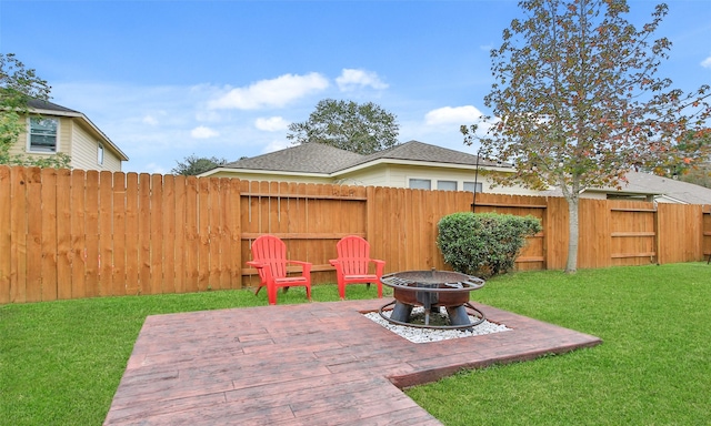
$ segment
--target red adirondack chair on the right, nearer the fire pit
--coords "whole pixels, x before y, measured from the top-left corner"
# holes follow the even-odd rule
[[[346,286],[348,284],[371,283],[378,285],[378,297],[382,297],[382,283],[380,277],[385,267],[385,262],[370,258],[370,244],[357,235],[349,235],[336,244],[338,258],[329,262],[336,266],[338,278],[338,293],[341,300],[346,300]],[[372,273],[371,264],[374,264]]]

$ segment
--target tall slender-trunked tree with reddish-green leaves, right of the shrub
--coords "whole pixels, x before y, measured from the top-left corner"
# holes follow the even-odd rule
[[[671,43],[653,40],[668,13],[654,8],[640,29],[625,0],[525,0],[525,18],[491,51],[493,116],[484,136],[462,126],[464,142],[515,166],[514,181],[560,187],[569,205],[567,272],[578,267],[578,205],[592,186],[618,186],[632,168],[661,171],[689,158],[684,134],[704,128],[709,87],[684,93],[657,77]],[[682,143],[683,145],[683,143]],[[704,158],[709,145],[699,146]],[[505,183],[505,182],[501,182]]]

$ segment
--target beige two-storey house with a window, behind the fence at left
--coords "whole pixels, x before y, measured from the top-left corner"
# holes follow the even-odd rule
[[[31,100],[27,132],[10,154],[48,156],[62,152],[72,169],[120,172],[129,158],[87,115],[48,101]]]

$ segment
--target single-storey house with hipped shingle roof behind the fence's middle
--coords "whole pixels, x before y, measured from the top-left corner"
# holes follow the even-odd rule
[[[491,186],[490,173],[511,173],[508,164],[410,141],[370,155],[319,143],[304,143],[224,164],[201,176],[248,181],[330,183],[532,195],[514,186]]]

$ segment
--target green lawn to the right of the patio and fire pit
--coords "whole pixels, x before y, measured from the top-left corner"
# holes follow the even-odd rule
[[[711,266],[531,272],[472,298],[603,339],[407,390],[445,425],[708,425]]]

